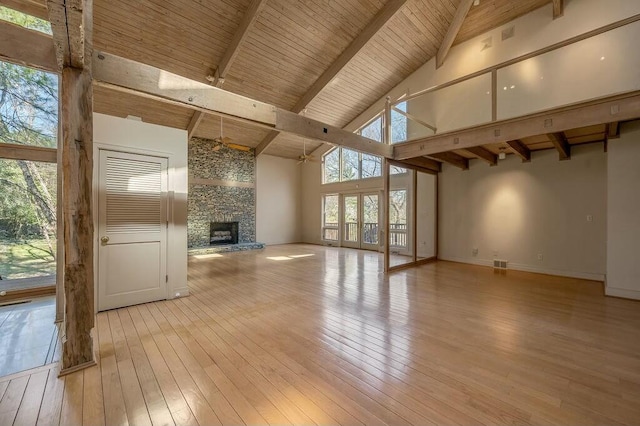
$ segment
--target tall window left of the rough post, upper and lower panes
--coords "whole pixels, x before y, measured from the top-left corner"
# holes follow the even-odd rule
[[[0,19],[10,20],[7,13],[0,9]],[[0,143],[55,149],[57,133],[57,75],[0,62]],[[24,158],[0,158],[3,290],[22,288],[26,278],[55,282],[57,165]]]

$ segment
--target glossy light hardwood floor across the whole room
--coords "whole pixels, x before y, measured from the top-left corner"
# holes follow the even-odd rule
[[[100,313],[99,365],[0,379],[0,425],[640,423],[640,303],[601,283],[310,245],[192,258]]]

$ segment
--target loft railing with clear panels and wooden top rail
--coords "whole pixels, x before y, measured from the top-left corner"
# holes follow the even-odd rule
[[[421,139],[639,90],[640,56],[629,54],[636,40],[640,15],[387,102],[385,141]]]

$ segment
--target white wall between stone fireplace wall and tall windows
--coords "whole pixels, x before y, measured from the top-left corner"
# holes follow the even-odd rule
[[[286,244],[301,241],[302,165],[271,155],[256,165],[256,241]]]

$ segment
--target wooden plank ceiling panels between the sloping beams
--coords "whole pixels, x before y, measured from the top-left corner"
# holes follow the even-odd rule
[[[226,70],[222,88],[293,109],[314,82],[398,0],[94,0],[95,49],[197,81],[213,76],[247,11],[255,19]],[[479,35],[551,0],[482,0],[471,7],[455,43]],[[44,0],[0,0],[37,10]],[[400,9],[307,105],[306,114],[343,127],[435,56],[460,0],[400,0]],[[253,7],[252,7],[253,6]],[[236,37],[237,39],[237,37]],[[220,83],[218,83],[220,84]],[[193,111],[97,88],[95,111],[186,129]],[[219,136],[206,116],[195,136]],[[256,147],[268,134],[247,124],[225,125],[234,143]],[[321,144],[306,141],[307,151]],[[301,138],[278,135],[265,153],[296,158]]]

